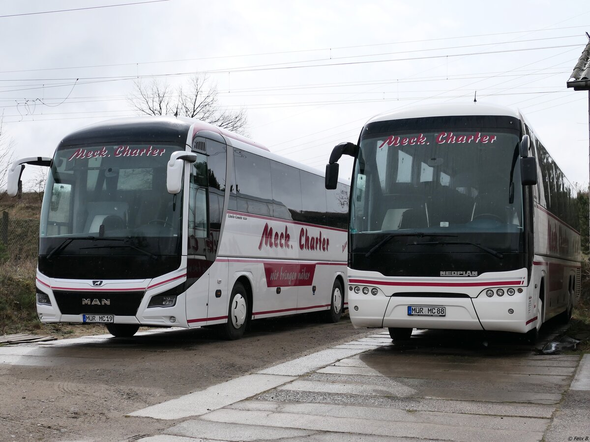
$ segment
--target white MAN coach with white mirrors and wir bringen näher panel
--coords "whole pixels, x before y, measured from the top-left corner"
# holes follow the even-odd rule
[[[348,189],[201,121],[106,121],[63,138],[41,210],[37,311],[44,323],[215,325],[345,306]]]

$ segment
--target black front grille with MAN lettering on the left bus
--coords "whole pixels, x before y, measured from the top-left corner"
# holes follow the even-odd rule
[[[54,291],[53,294],[63,315],[135,316],[143,299],[143,292]]]

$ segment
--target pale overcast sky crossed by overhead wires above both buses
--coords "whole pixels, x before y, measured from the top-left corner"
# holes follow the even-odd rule
[[[207,73],[221,107],[247,110],[253,140],[323,169],[375,114],[477,91],[520,109],[569,180],[587,183],[588,93],[566,87],[588,42],[584,5],[2,0],[0,113],[15,156],[53,156],[71,131],[134,115],[137,78]]]

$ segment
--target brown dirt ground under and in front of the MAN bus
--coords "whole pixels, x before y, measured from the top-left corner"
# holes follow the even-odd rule
[[[107,334],[103,326],[50,331],[40,334]],[[172,422],[127,414],[373,332],[354,329],[348,318],[322,324],[308,314],[254,321],[238,341],[201,328],[65,347],[55,341],[0,347],[0,441],[158,434]]]

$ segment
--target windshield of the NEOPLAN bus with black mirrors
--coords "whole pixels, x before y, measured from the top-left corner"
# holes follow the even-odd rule
[[[516,252],[523,229],[520,133],[498,119],[430,117],[369,126],[353,174],[351,234],[425,233]],[[484,242],[481,234],[489,234]]]

